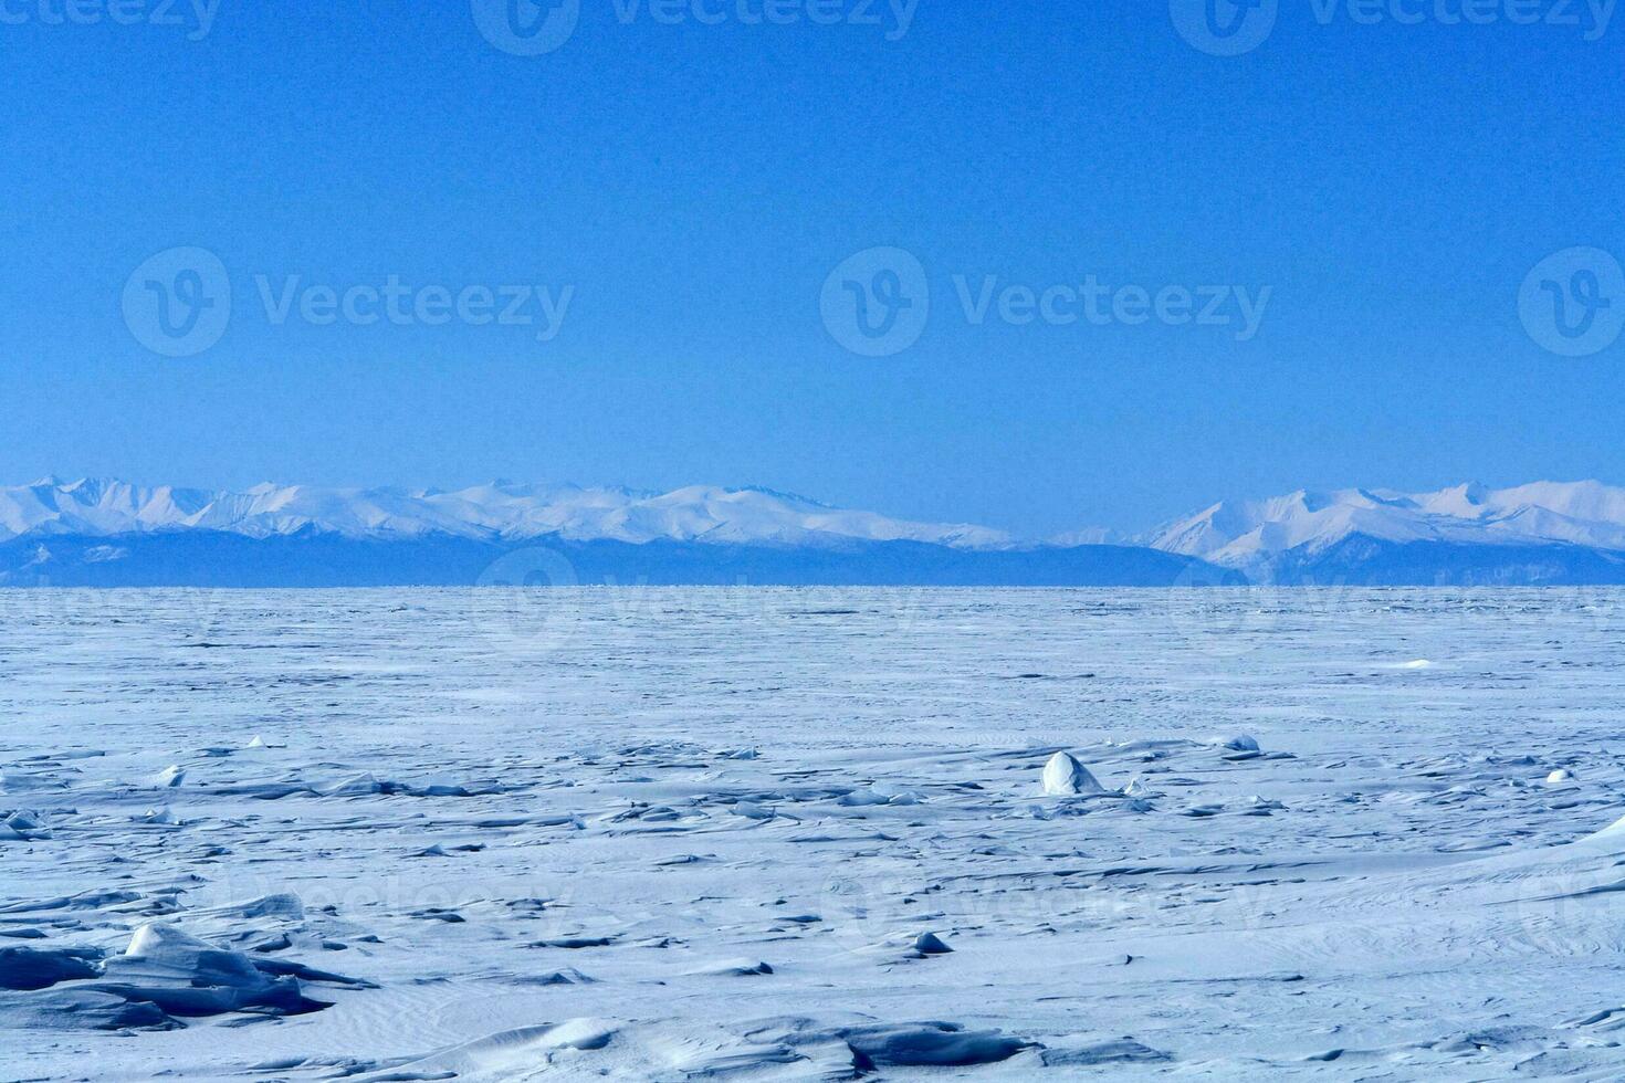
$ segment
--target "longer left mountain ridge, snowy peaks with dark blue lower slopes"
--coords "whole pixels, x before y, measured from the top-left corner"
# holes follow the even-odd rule
[[[765,489],[0,489],[0,586],[1165,586],[1194,567],[1216,572]]]

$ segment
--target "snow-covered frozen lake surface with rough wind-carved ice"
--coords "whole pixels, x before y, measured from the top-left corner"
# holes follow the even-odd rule
[[[0,591],[0,1080],[1617,1080],[1622,641],[1625,591]]]

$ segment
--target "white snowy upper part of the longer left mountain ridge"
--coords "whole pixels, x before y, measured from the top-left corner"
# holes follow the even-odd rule
[[[301,533],[349,539],[653,541],[830,546],[913,541],[998,549],[1012,539],[980,526],[908,523],[830,508],[764,489],[691,487],[668,494],[494,482],[458,492],[255,485],[244,492],[143,487],[55,477],[0,489],[0,542],[24,536],[112,537],[216,531],[247,537]]]

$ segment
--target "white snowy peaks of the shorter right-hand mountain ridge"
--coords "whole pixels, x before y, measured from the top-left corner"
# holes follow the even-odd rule
[[[1216,503],[1147,541],[1164,552],[1250,568],[1287,554],[1310,559],[1354,539],[1625,552],[1625,489],[1584,481],[1516,489],[1469,484],[1424,494],[1295,492],[1274,500]]]

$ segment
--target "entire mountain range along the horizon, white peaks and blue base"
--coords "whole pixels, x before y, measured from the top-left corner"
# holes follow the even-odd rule
[[[538,554],[549,555],[525,572]],[[0,586],[453,586],[538,575],[556,585],[1625,585],[1625,489],[1300,490],[1216,503],[1141,537],[1084,529],[1037,542],[707,485],[0,487]]]

